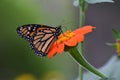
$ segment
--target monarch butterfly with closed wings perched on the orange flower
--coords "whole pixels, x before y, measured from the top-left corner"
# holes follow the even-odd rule
[[[50,27],[46,25],[27,24],[17,28],[19,36],[26,39],[38,56],[46,56],[52,44],[61,34],[61,26]]]

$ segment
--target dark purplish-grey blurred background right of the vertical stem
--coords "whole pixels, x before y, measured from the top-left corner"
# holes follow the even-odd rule
[[[116,54],[113,47],[106,43],[114,43],[112,28],[120,30],[120,1],[89,5],[86,24],[96,26],[92,37],[86,38],[86,57],[96,67],[102,66],[109,58]],[[89,39],[88,39],[89,38]],[[87,40],[88,39],[88,40]]]

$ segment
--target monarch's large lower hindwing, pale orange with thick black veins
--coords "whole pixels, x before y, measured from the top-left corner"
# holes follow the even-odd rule
[[[41,27],[32,37],[30,45],[38,56],[46,56],[52,44],[57,40],[56,28]]]

